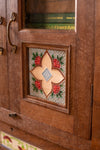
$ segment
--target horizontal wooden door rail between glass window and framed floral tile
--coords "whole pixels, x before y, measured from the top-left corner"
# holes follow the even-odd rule
[[[62,32],[35,29],[23,29],[19,31],[20,41],[23,43],[37,43],[47,45],[75,45],[75,32]]]

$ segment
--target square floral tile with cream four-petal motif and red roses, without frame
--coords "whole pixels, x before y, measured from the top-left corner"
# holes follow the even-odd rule
[[[65,106],[66,52],[29,48],[30,95]]]

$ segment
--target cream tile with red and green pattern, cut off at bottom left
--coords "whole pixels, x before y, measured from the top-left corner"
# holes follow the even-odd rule
[[[10,150],[42,150],[4,132],[0,132],[0,144]]]

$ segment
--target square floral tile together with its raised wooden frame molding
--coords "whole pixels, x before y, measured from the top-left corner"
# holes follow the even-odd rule
[[[70,46],[23,45],[25,100],[68,112]]]

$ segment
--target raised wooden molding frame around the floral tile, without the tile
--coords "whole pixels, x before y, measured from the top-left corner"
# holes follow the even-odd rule
[[[28,61],[28,48],[43,48],[46,50],[60,50],[60,51],[65,51],[66,53],[66,75],[65,75],[65,90],[66,90],[66,94],[65,94],[65,106],[62,106],[60,104],[56,104],[53,102],[48,102],[47,100],[44,100],[42,98],[37,98],[35,96],[30,96],[28,91],[29,91],[29,61]],[[61,111],[64,113],[69,113],[69,96],[70,96],[70,51],[71,51],[71,46],[60,46],[60,45],[43,45],[43,44],[27,44],[27,43],[22,43],[22,68],[23,68],[23,98],[25,98],[26,101],[32,102],[33,99],[33,103],[35,104],[39,104],[41,106],[46,106],[50,109],[56,109],[57,111]],[[26,67],[24,67],[26,66]],[[27,80],[26,80],[27,79]],[[69,92],[69,93],[68,93]],[[35,101],[34,101],[35,100]],[[38,102],[36,102],[36,100],[38,100]],[[41,102],[42,101],[42,102]],[[44,102],[44,105],[43,105]],[[49,105],[49,103],[51,105]],[[55,105],[55,106],[53,106]],[[57,107],[58,106],[58,107]],[[62,108],[60,108],[60,106]]]

